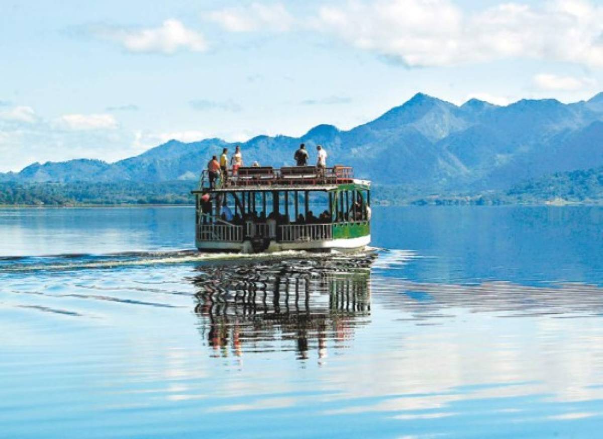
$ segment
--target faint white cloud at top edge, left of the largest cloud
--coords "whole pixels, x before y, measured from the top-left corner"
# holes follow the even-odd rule
[[[281,3],[253,3],[248,7],[231,7],[210,12],[207,17],[229,32],[291,29],[294,19]]]

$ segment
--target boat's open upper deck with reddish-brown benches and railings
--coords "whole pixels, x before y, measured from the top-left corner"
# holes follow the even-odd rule
[[[321,190],[330,191],[340,185],[362,185],[368,187],[370,182],[355,180],[351,166],[335,165],[330,168],[317,168],[316,166],[245,166],[228,174],[222,174],[218,180],[210,185],[207,171],[203,171],[199,188],[201,192],[216,191],[250,191],[250,190]]]

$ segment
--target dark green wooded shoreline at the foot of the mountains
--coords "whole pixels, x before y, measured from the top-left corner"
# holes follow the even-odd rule
[[[77,206],[194,204],[192,181],[161,183],[0,183],[0,205]],[[498,204],[603,203],[603,167],[557,172],[508,191],[443,191],[419,185],[374,185],[374,205],[495,206]]]

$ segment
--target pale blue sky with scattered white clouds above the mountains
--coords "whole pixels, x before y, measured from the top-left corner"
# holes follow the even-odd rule
[[[0,0],[0,172],[603,90],[603,1]]]

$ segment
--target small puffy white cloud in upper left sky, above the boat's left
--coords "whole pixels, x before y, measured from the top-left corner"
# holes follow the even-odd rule
[[[107,40],[120,43],[127,51],[171,55],[178,50],[192,52],[207,50],[203,35],[190,30],[175,19],[168,19],[160,27],[146,29],[96,28],[94,33]]]

